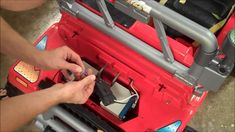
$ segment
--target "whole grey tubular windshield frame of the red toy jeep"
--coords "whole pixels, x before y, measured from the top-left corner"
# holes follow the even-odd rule
[[[205,70],[208,70],[207,67],[209,63],[217,53],[217,39],[212,32],[153,0],[116,0],[112,4],[120,11],[128,11],[124,12],[127,15],[133,13],[138,14],[140,12],[141,14],[147,14],[143,17],[136,17],[141,16],[140,14],[134,16],[140,20],[145,21],[149,20],[147,17],[153,17],[157,27],[156,31],[158,32],[158,37],[161,40],[163,53],[149,46],[147,43],[141,41],[128,32],[122,30],[121,28],[112,25],[113,21],[107,10],[104,0],[97,0],[102,17],[92,13],[85,7],[76,3],[74,0],[58,1],[62,10],[71,13],[72,15],[86,21],[103,33],[115,38],[125,46],[128,46],[129,48],[143,55],[148,60],[162,67],[177,77],[179,80],[190,86],[197,86],[198,84],[201,84],[198,80],[202,80],[202,73]],[[106,1],[109,2],[108,0]],[[174,60],[165,36],[165,30],[162,23],[170,26],[173,29],[176,29],[177,31],[185,34],[186,36],[196,40],[201,44],[199,52],[195,57],[194,64],[190,68],[187,68],[186,66]],[[208,85],[208,83],[206,85]],[[210,86],[204,87],[205,90],[207,90]]]

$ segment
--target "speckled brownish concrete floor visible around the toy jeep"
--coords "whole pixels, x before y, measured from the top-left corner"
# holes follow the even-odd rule
[[[1,16],[31,43],[60,18],[55,0],[25,12],[1,10]],[[4,87],[7,69],[14,61],[13,58],[1,55],[1,87]],[[199,132],[234,132],[234,88],[235,77],[230,76],[218,92],[209,93],[189,125]],[[30,123],[19,131],[38,131],[38,129]]]

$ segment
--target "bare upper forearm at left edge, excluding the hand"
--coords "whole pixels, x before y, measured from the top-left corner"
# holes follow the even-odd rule
[[[40,51],[14,31],[1,17],[1,53],[35,65]]]

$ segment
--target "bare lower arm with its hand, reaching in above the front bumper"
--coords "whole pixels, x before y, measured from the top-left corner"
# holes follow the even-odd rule
[[[0,131],[14,131],[33,117],[59,103],[84,104],[92,94],[96,77],[56,84],[51,88],[12,97],[0,102]]]

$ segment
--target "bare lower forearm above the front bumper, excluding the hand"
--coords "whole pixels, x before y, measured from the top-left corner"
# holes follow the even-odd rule
[[[14,131],[39,113],[58,104],[61,100],[59,94],[58,88],[49,88],[1,101],[0,131]]]

